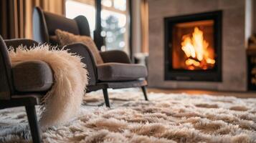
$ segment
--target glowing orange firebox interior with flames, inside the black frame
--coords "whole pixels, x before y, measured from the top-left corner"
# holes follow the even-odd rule
[[[180,44],[174,44],[174,69],[196,70],[214,68],[213,21],[200,21],[196,23],[198,26],[183,23],[177,24],[174,28],[177,31],[176,36],[179,36],[174,37],[174,39],[181,41]]]

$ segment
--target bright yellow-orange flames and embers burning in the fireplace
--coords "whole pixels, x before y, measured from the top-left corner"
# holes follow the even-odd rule
[[[192,37],[190,35],[182,36],[181,49],[186,54],[185,64],[190,70],[196,68],[208,69],[215,64],[215,60],[209,57],[209,43],[204,40],[203,31],[198,27],[194,28]]]

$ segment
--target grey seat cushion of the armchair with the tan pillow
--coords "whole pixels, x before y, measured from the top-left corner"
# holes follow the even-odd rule
[[[98,64],[98,79],[103,82],[132,81],[148,76],[146,66],[141,64]]]

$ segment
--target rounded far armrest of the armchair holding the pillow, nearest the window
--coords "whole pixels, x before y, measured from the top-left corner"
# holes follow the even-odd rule
[[[124,51],[120,50],[111,50],[111,51],[101,51],[100,56],[103,58],[105,63],[108,62],[118,62],[131,64],[131,60]]]

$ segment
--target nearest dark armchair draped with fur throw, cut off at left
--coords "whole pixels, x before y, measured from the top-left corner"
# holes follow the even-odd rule
[[[0,109],[26,108],[33,142],[41,142],[35,105],[51,89],[53,75],[44,61],[24,61],[11,64],[7,46],[33,46],[36,41],[13,39],[4,41],[0,36]]]

